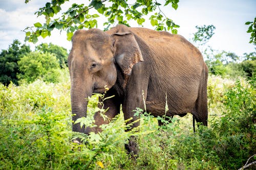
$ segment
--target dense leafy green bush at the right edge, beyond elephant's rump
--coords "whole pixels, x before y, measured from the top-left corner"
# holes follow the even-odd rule
[[[224,93],[226,111],[219,123],[214,124],[220,136],[216,152],[230,168],[239,168],[255,154],[255,83],[255,78],[248,82],[236,80]]]

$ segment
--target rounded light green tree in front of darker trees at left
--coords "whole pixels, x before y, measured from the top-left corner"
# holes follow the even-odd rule
[[[18,75],[19,79],[27,82],[33,82],[36,79],[53,83],[58,81],[59,61],[50,53],[31,52],[18,61],[18,66],[21,71]]]

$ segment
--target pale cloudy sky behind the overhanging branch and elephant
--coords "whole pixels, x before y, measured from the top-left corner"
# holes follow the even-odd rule
[[[0,50],[7,50],[14,39],[25,43],[25,33],[22,30],[33,26],[38,21],[44,22],[44,17],[37,17],[34,13],[49,1],[31,0],[25,4],[25,0],[0,0]],[[67,10],[73,3],[82,4],[85,1],[70,0],[61,6],[62,11]],[[224,50],[236,53],[238,56],[255,51],[256,46],[249,43],[250,34],[246,33],[248,26],[244,24],[246,21],[253,21],[256,17],[255,0],[180,0],[178,5],[177,10],[168,6],[163,8],[163,12],[180,26],[178,34],[186,39],[193,37],[193,33],[197,31],[196,26],[214,25],[215,35],[208,42],[214,50]],[[130,25],[138,27],[136,22]],[[150,23],[145,24],[144,27],[153,29]],[[103,26],[98,24],[98,28],[103,29]],[[67,50],[71,49],[72,44],[66,39],[66,31],[60,33],[55,30],[51,34],[45,39],[39,37],[36,44],[30,42],[26,44],[30,45],[32,50],[35,45],[42,42],[52,42]]]

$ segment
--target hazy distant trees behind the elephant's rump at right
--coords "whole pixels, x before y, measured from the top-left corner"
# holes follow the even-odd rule
[[[237,56],[231,52],[216,51],[207,45],[209,39],[214,35],[215,27],[204,25],[196,28],[197,32],[193,34],[194,37],[191,41],[202,52],[210,74],[233,79],[238,77],[251,78],[253,76],[256,71],[256,52]]]

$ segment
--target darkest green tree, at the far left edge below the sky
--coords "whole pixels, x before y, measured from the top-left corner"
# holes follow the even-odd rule
[[[30,53],[30,46],[21,45],[18,40],[13,40],[8,50],[0,53],[0,82],[8,86],[10,82],[18,84],[17,74],[20,73],[17,62],[24,55]]]

